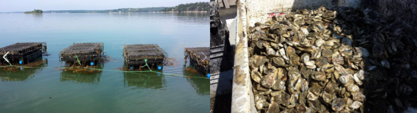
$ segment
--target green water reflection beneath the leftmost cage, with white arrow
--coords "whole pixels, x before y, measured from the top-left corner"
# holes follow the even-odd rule
[[[26,68],[22,69],[22,71],[0,71],[0,79],[2,81],[26,81],[31,79],[35,76],[35,74],[40,73],[43,68],[48,66],[48,59],[45,60],[45,63],[39,64],[38,68]]]

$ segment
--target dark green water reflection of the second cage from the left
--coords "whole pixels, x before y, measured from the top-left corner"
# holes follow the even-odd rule
[[[98,66],[97,69],[103,69],[103,66]],[[103,71],[93,74],[76,74],[72,71],[62,71],[60,81],[72,81],[77,84],[98,84],[102,72]]]

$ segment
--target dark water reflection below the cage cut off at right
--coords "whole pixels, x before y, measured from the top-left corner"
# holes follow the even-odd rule
[[[187,79],[188,83],[190,83],[191,86],[193,86],[194,90],[196,90],[196,93],[198,93],[198,95],[208,95],[210,91],[210,86],[207,84],[210,84],[210,81],[208,81],[207,79],[203,79],[203,78],[193,77],[193,76],[196,76],[196,73],[191,72],[191,71],[185,71],[186,68],[193,69],[194,67],[192,65],[186,66],[184,64],[183,74],[184,76],[191,76],[191,77],[185,77],[185,78]],[[198,76],[198,77],[205,77],[205,76]]]

